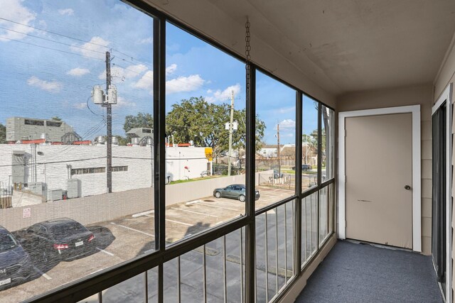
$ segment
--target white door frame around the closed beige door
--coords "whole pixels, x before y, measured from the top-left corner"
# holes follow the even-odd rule
[[[338,238],[346,238],[346,128],[345,119],[361,116],[412,113],[412,250],[422,252],[422,186],[420,156],[420,105],[341,111],[338,113]]]

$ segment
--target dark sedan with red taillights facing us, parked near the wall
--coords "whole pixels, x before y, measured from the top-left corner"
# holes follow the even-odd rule
[[[45,263],[73,260],[92,253],[95,235],[73,219],[44,221],[26,229],[23,246],[42,258]]]

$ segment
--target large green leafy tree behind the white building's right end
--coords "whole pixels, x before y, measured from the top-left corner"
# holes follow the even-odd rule
[[[213,148],[215,157],[229,150],[229,131],[225,123],[230,121],[230,104],[208,103],[203,97],[183,99],[173,104],[166,117],[166,133],[173,134],[174,141]],[[246,142],[246,111],[234,109],[234,121],[237,131],[232,133],[232,149],[245,149]],[[256,144],[261,148],[265,123],[256,118]]]

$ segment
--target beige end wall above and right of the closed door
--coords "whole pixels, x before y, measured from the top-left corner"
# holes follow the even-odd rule
[[[432,85],[353,92],[336,100],[337,111],[420,104],[422,144],[422,252],[432,252]]]

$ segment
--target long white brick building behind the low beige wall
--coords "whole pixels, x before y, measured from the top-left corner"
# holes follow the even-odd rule
[[[151,146],[112,145],[112,191],[152,186]],[[170,181],[212,172],[205,148],[166,148],[166,177]],[[105,145],[0,145],[0,187],[42,182],[47,192],[68,189],[68,179],[80,180],[80,197],[106,192]],[[18,185],[17,185],[18,186]],[[45,193],[43,193],[45,194]]]

